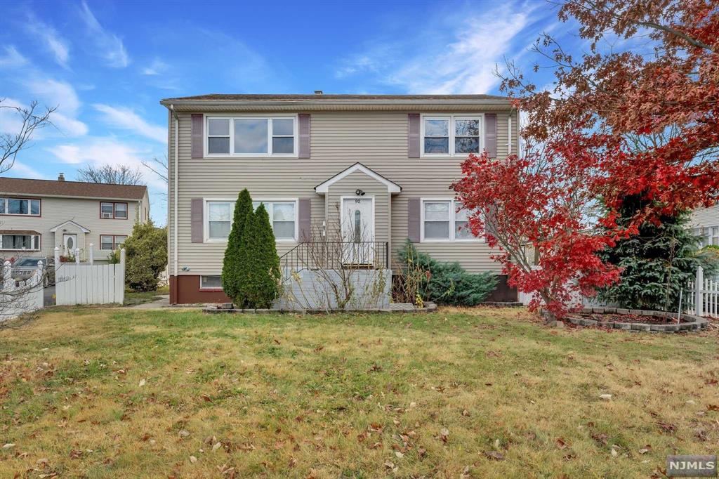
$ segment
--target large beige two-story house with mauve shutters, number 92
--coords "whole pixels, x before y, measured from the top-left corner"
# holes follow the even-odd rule
[[[165,99],[170,301],[226,301],[234,201],[267,206],[283,261],[310,230],[365,226],[372,255],[407,238],[436,260],[496,271],[450,184],[470,152],[518,152],[517,111],[488,95],[204,95]],[[390,260],[388,260],[390,263]],[[493,299],[516,301],[505,283]]]

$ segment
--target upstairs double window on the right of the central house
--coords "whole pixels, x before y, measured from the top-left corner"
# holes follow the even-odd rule
[[[482,151],[482,115],[422,117],[422,156],[464,156]]]

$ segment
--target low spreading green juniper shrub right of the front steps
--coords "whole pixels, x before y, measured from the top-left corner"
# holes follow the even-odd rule
[[[398,253],[400,267],[418,266],[425,271],[423,286],[427,301],[449,306],[476,306],[485,301],[497,287],[497,275],[487,272],[467,273],[459,263],[439,263],[426,253],[418,252],[407,239]]]

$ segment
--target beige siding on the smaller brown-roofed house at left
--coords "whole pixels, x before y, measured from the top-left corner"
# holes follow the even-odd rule
[[[100,250],[101,234],[132,234],[132,227],[135,219],[142,214],[138,209],[137,200],[101,200],[101,199],[75,199],[55,198],[51,196],[35,196],[41,200],[42,216],[9,216],[0,215],[2,227],[0,229],[29,229],[41,234],[41,252],[27,252],[28,255],[52,256],[56,246],[62,246],[63,228],[57,232],[50,232],[50,229],[63,222],[73,221],[82,227],[89,229],[89,233],[67,225],[65,233],[78,235],[78,247],[82,250],[82,257],[86,257],[86,250],[92,243],[94,257],[98,260],[106,259],[108,252]],[[127,219],[101,219],[100,203],[111,201],[116,203],[127,203]],[[146,201],[146,200],[145,200]],[[149,206],[148,206],[149,208]],[[18,256],[22,252],[0,250],[4,257]]]

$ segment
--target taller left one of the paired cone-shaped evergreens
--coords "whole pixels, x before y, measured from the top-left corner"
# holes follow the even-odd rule
[[[243,308],[246,298],[242,295],[240,282],[240,260],[239,250],[242,242],[242,232],[247,222],[247,217],[252,214],[252,198],[247,188],[239,192],[237,202],[234,204],[232,217],[232,228],[227,238],[227,249],[225,250],[222,263],[222,289],[232,299],[238,308]]]

